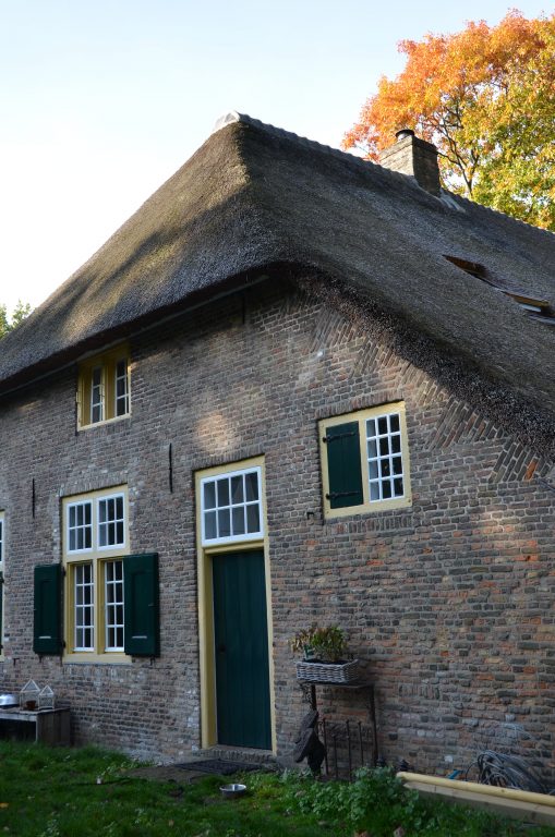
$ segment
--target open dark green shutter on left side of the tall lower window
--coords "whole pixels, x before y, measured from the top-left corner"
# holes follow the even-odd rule
[[[59,563],[35,567],[35,654],[61,654],[62,568]]]

